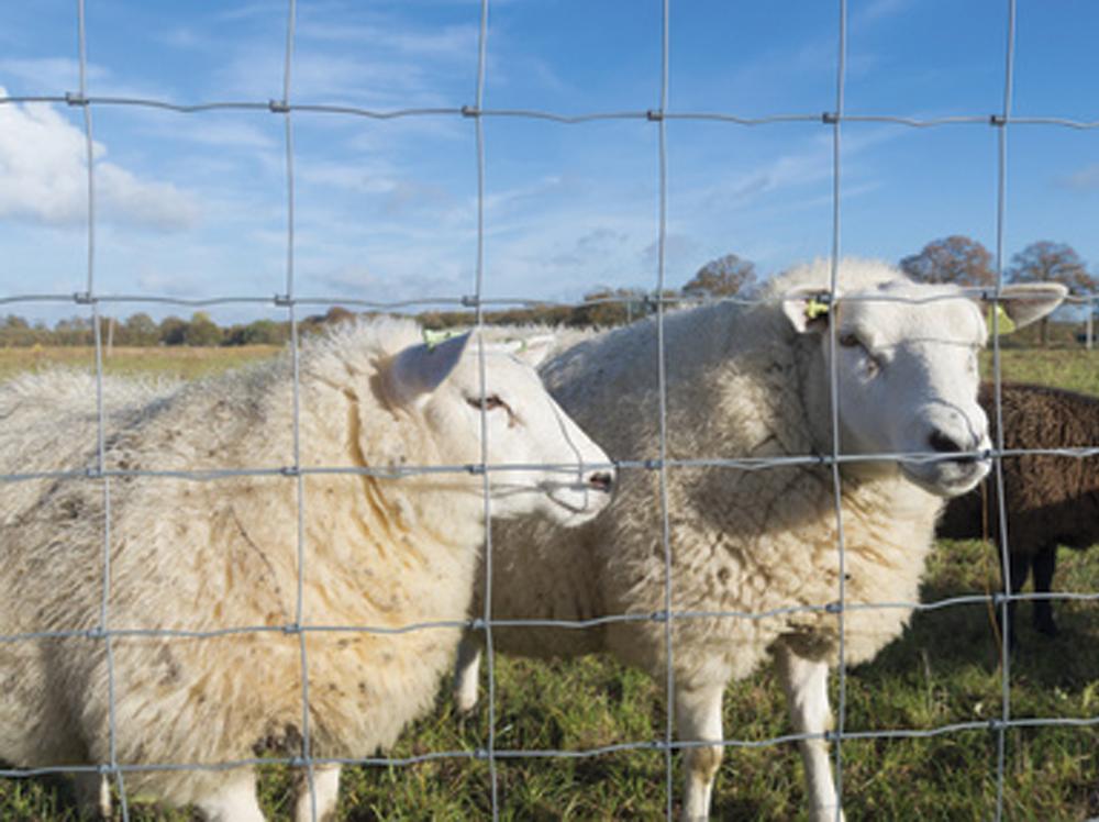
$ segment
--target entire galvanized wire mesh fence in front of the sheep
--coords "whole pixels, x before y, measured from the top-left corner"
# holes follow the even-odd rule
[[[391,111],[374,111],[352,105],[341,104],[314,104],[309,102],[298,102],[291,99],[292,69],[296,37],[296,0],[288,0],[287,7],[287,31],[286,48],[284,59],[282,76],[282,99],[268,101],[202,101],[198,103],[184,104],[169,100],[155,100],[131,97],[97,97],[89,95],[88,55],[86,36],[86,8],[85,0],[77,0],[77,31],[78,31],[78,54],[79,54],[79,88],[76,92],[65,92],[53,96],[10,96],[0,98],[0,105],[21,104],[27,102],[44,102],[78,107],[81,110],[85,124],[86,163],[87,163],[87,189],[88,189],[88,220],[87,220],[87,284],[86,290],[77,293],[21,293],[0,297],[0,304],[40,304],[40,303],[74,303],[87,307],[93,325],[95,341],[95,374],[96,374],[96,410],[98,416],[97,440],[95,443],[95,466],[84,470],[60,470],[60,471],[37,471],[37,473],[11,473],[0,475],[0,482],[23,482],[34,479],[52,478],[57,480],[91,481],[100,482],[103,495],[103,549],[102,549],[102,591],[100,598],[100,614],[98,625],[90,631],[87,630],[55,630],[29,632],[13,635],[0,635],[0,643],[30,642],[44,638],[68,638],[88,637],[101,640],[104,643],[104,654],[108,666],[108,696],[109,696],[109,747],[107,762],[89,764],[84,766],[57,765],[36,768],[8,768],[0,769],[0,777],[33,777],[48,774],[87,774],[109,776],[116,788],[120,800],[122,818],[129,820],[129,804],[126,802],[125,775],[140,774],[151,770],[223,770],[245,766],[268,766],[273,764],[286,764],[297,768],[303,768],[307,776],[307,786],[310,790],[312,802],[312,814],[317,817],[317,803],[313,796],[314,773],[318,767],[329,767],[335,765],[366,765],[366,766],[411,766],[415,764],[433,762],[443,758],[469,759],[470,762],[486,762],[488,765],[490,792],[491,792],[491,814],[493,820],[500,814],[500,791],[497,773],[498,762],[511,762],[519,759],[541,759],[541,758],[587,758],[604,756],[621,752],[660,752],[665,759],[666,773],[666,803],[665,812],[667,818],[673,818],[675,786],[673,785],[673,754],[677,751],[687,751],[693,747],[719,744],[730,748],[751,748],[771,745],[782,745],[793,742],[824,738],[834,745],[835,784],[840,802],[836,809],[839,819],[843,806],[844,796],[844,769],[843,769],[843,743],[845,740],[904,740],[904,738],[929,738],[946,734],[966,732],[991,732],[996,741],[996,819],[1003,817],[1004,807],[1004,782],[1008,758],[1007,733],[1012,729],[1032,727],[1081,727],[1090,729],[1099,726],[1099,717],[1094,718],[1026,718],[1013,719],[1011,713],[1011,673],[1010,659],[1011,648],[1009,637],[1004,631],[1001,636],[1001,707],[1000,715],[990,720],[956,722],[937,727],[926,729],[872,729],[852,730],[847,727],[846,715],[846,666],[843,620],[847,611],[873,610],[873,609],[906,609],[914,612],[931,612],[945,608],[957,608],[964,606],[985,606],[1000,610],[1002,624],[1009,624],[1007,619],[1008,607],[1013,601],[1026,600],[1064,600],[1077,602],[1099,601],[1099,592],[1052,592],[1052,593],[1012,593],[1010,580],[1010,564],[1008,559],[1009,535],[1007,530],[1007,509],[1003,495],[1003,469],[1002,459],[1023,454],[1042,454],[1073,457],[1077,459],[1099,456],[1099,444],[1085,447],[1073,448],[1033,448],[1033,449],[1008,449],[1003,443],[1002,408],[1001,408],[1001,386],[1002,386],[1002,363],[1000,349],[999,318],[997,312],[991,312],[991,340],[992,340],[992,381],[995,385],[995,418],[997,429],[997,440],[993,447],[987,452],[975,453],[974,456],[991,457],[995,463],[995,481],[998,489],[998,510],[996,515],[1000,526],[1001,562],[1003,567],[1003,590],[986,595],[967,595],[951,597],[937,601],[929,602],[873,602],[873,603],[850,603],[846,601],[844,587],[844,565],[845,544],[843,529],[842,508],[842,475],[843,465],[854,462],[874,462],[907,459],[910,462],[935,462],[956,457],[957,455],[940,454],[873,454],[873,455],[848,455],[840,451],[840,418],[839,418],[839,375],[836,370],[836,358],[831,357],[831,368],[829,380],[831,385],[831,429],[832,447],[830,453],[811,454],[803,456],[790,456],[780,458],[741,458],[721,457],[714,455],[702,455],[698,458],[681,459],[671,458],[667,452],[667,353],[665,351],[664,320],[669,308],[674,308],[679,302],[691,302],[681,298],[668,297],[666,291],[666,244],[668,224],[668,151],[667,151],[667,123],[677,122],[704,122],[715,121],[726,123],[731,126],[741,127],[766,127],[782,125],[787,123],[818,123],[829,129],[832,136],[832,236],[830,251],[830,289],[828,297],[835,299],[837,292],[839,260],[841,258],[841,213],[842,213],[842,176],[841,160],[843,156],[842,126],[844,123],[886,123],[914,129],[936,129],[936,127],[961,127],[961,126],[985,126],[997,130],[997,164],[998,180],[996,190],[996,285],[991,289],[974,289],[975,293],[980,293],[985,298],[992,300],[1010,299],[1003,295],[1004,274],[1004,236],[1007,220],[1007,138],[1008,127],[1030,126],[1030,127],[1059,127],[1072,130],[1095,130],[1099,129],[1099,121],[1079,121],[1056,116],[1014,116],[1011,111],[1011,95],[1014,73],[1014,38],[1015,38],[1015,0],[1007,1],[1007,32],[1006,32],[1006,57],[1004,57],[1004,84],[1003,100],[1001,111],[991,114],[973,114],[945,118],[912,118],[899,114],[876,114],[876,115],[848,115],[844,111],[844,84],[846,69],[846,44],[847,44],[847,5],[846,0],[839,0],[837,3],[837,53],[836,53],[836,76],[835,76],[835,99],[834,109],[820,113],[778,113],[767,116],[746,118],[730,112],[677,112],[671,110],[668,96],[670,59],[669,59],[669,23],[671,20],[670,0],[662,0],[662,30],[660,30],[660,75],[658,82],[659,108],[644,111],[617,111],[617,112],[588,112],[580,114],[566,114],[536,109],[490,109],[485,107],[485,87],[487,74],[487,42],[489,34],[489,0],[480,2],[480,23],[478,36],[477,54],[477,81],[475,90],[475,102],[473,105],[459,108],[437,108],[437,109],[400,109]],[[286,273],[285,285],[281,293],[274,296],[236,295],[236,296],[211,296],[201,299],[184,299],[155,293],[100,293],[97,288],[96,269],[96,167],[93,162],[93,129],[92,109],[108,107],[138,107],[154,108],[182,115],[201,115],[210,111],[255,111],[257,114],[270,113],[282,118],[285,124],[285,148],[286,148]],[[476,138],[476,214],[477,214],[477,251],[476,251],[476,276],[474,289],[470,295],[439,295],[424,296],[419,299],[401,301],[384,301],[364,299],[356,295],[331,295],[331,296],[301,296],[297,293],[295,284],[295,144],[293,144],[293,119],[295,115],[331,115],[331,116],[359,116],[374,120],[391,120],[400,118],[460,118],[473,123]],[[375,467],[304,467],[301,465],[301,393],[300,393],[300,327],[299,327],[299,306],[310,304],[333,304],[340,303],[362,308],[364,310],[378,311],[408,311],[417,308],[437,308],[449,306],[462,309],[473,309],[475,326],[480,330],[486,326],[485,309],[490,306],[531,307],[548,303],[543,300],[531,300],[526,297],[486,299],[485,291],[485,179],[487,171],[487,159],[485,154],[485,122],[493,118],[521,118],[528,120],[544,120],[562,125],[582,125],[585,123],[608,121],[608,120],[636,120],[642,127],[654,124],[657,129],[657,270],[655,289],[652,295],[645,296],[646,302],[655,309],[655,327],[657,334],[657,385],[659,398],[659,452],[656,459],[622,459],[606,466],[590,465],[589,469],[601,467],[614,467],[618,470],[656,470],[659,475],[659,510],[662,521],[660,545],[664,554],[665,581],[664,581],[664,608],[654,613],[620,613],[608,614],[589,620],[540,620],[540,619],[518,619],[506,620],[496,619],[492,615],[492,535],[491,527],[487,531],[485,548],[485,584],[486,599],[485,608],[480,615],[459,621],[433,621],[409,623],[406,625],[329,625],[310,621],[306,612],[304,585],[308,568],[306,557],[307,545],[307,499],[306,478],[310,475],[360,475],[375,476],[387,479],[398,479],[401,477],[414,476],[418,474],[431,473],[469,473],[480,475],[482,478],[482,491],[485,500],[485,516],[489,520],[492,513],[491,487],[492,479],[498,474],[506,474],[512,470],[525,470],[529,468],[566,470],[575,466],[529,466],[519,464],[489,464],[488,460],[488,426],[485,413],[481,415],[481,458],[480,463],[473,465],[433,465],[433,466],[401,466],[399,468],[375,468]],[[881,298],[875,298],[881,299]],[[885,298],[901,299],[901,298]],[[934,297],[931,300],[957,299],[956,297]],[[1074,295],[1072,298],[1089,307],[1099,300],[1099,295]],[[624,302],[621,297],[608,297],[592,302]],[[741,304],[756,304],[758,299],[752,297],[731,298],[726,301]],[[242,466],[234,469],[203,470],[125,470],[115,469],[108,466],[107,446],[107,412],[104,410],[104,355],[103,341],[101,334],[102,310],[106,306],[122,306],[129,303],[151,303],[171,304],[187,307],[209,307],[226,304],[255,304],[275,306],[284,308],[290,326],[290,363],[293,381],[293,434],[291,463],[286,466]],[[479,335],[480,336],[480,335]],[[835,329],[833,327],[829,345],[836,346]],[[485,349],[479,343],[478,348],[481,393],[485,393]],[[818,466],[830,470],[834,489],[834,508],[836,522],[836,551],[839,553],[840,574],[836,599],[831,602],[820,602],[811,604],[791,604],[786,608],[773,609],[764,612],[744,611],[676,611],[674,610],[674,545],[670,530],[670,511],[668,502],[667,478],[670,470],[690,467],[724,467],[735,470],[754,471],[766,470],[781,466],[806,465]],[[219,481],[232,477],[243,476],[273,476],[292,479],[296,484],[297,495],[297,592],[295,621],[287,625],[235,625],[225,626],[214,631],[182,631],[167,629],[142,629],[132,625],[116,625],[111,619],[111,492],[112,480],[116,478],[173,478],[185,479],[197,482]],[[720,741],[691,741],[675,738],[675,675],[674,675],[674,647],[673,647],[673,625],[678,621],[689,621],[698,619],[744,619],[764,620],[777,616],[799,613],[817,612],[834,614],[840,626],[840,665],[836,669],[836,725],[835,730],[824,733],[795,733],[764,740],[744,740],[736,737],[722,738]],[[663,733],[653,740],[628,741],[613,745],[593,747],[589,749],[501,749],[497,746],[496,737],[496,670],[492,643],[493,626],[553,626],[570,630],[584,630],[599,625],[607,625],[619,622],[631,621],[655,621],[664,624],[665,653],[667,673],[664,682],[666,689],[666,721]],[[309,656],[307,653],[307,634],[310,633],[371,633],[378,635],[398,635],[414,631],[430,630],[453,630],[454,627],[482,631],[486,640],[486,660],[488,669],[488,695],[487,695],[487,737],[486,746],[476,751],[441,751],[430,752],[423,755],[410,757],[389,756],[367,756],[354,758],[332,758],[313,755],[311,747],[310,711],[309,711]],[[234,634],[257,634],[257,633],[285,633],[297,635],[300,647],[300,670],[301,670],[301,731],[302,741],[300,755],[282,758],[255,758],[241,759],[226,763],[126,763],[120,762],[116,752],[118,724],[115,717],[115,674],[113,663],[113,642],[120,637],[186,637],[186,638],[213,638]]]

